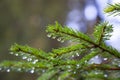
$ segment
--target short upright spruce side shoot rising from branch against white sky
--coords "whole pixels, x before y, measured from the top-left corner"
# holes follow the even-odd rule
[[[94,38],[95,42],[100,45],[105,40],[109,40],[113,32],[112,25],[109,25],[108,22],[103,22],[95,26],[94,28]]]

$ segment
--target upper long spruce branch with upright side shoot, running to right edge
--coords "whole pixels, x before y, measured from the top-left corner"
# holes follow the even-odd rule
[[[108,25],[108,23],[105,22],[96,27],[98,31],[95,30],[94,32],[95,41],[81,32],[74,31],[66,26],[63,28],[62,25],[57,22],[55,25],[49,25],[46,31],[51,35],[51,37],[56,36],[63,40],[73,39],[78,42],[83,42],[84,45],[87,43],[88,46],[92,45],[94,48],[100,48],[102,51],[108,52],[116,57],[120,57],[120,53],[117,50],[111,46],[105,45],[104,43],[104,40],[108,40],[111,36],[110,33],[113,31],[112,25]]]

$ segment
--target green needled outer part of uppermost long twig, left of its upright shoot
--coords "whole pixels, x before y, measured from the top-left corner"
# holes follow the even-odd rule
[[[72,40],[72,41],[78,41],[80,42],[85,41],[89,43],[94,43],[92,39],[83,34],[79,31],[74,31],[73,29],[68,28],[67,26],[62,27],[58,22],[55,23],[55,25],[48,25],[46,32],[50,35],[50,37],[56,37],[60,41],[62,40]]]

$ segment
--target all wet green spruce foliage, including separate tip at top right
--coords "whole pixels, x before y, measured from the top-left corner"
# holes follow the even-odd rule
[[[105,12],[119,13],[119,6],[110,4]],[[71,41],[74,44],[48,53],[27,45],[14,44],[10,53],[23,60],[3,61],[0,70],[38,73],[40,77],[37,80],[120,80],[120,52],[105,44],[112,31],[112,25],[101,22],[95,26],[90,37],[56,22],[47,27],[47,36],[62,43]],[[101,57],[102,62],[90,63],[96,55]]]

